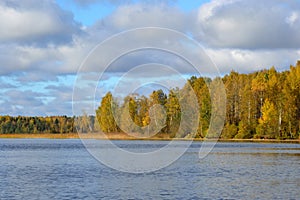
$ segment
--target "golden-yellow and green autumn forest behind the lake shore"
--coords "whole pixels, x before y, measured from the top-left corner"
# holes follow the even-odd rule
[[[300,61],[287,71],[278,72],[274,67],[250,74],[231,71],[221,80],[227,96],[221,138],[299,139]],[[181,124],[186,131],[179,136],[175,133],[182,116],[187,115],[181,111],[182,95],[179,94],[188,95],[186,88],[190,85],[199,108],[195,137],[205,138],[212,114],[209,85],[213,83],[214,79],[192,76],[183,88],[173,88],[168,93],[156,90],[149,97],[129,94],[122,100],[108,92],[102,98],[96,116],[0,116],[0,133],[91,133],[101,130],[105,133],[159,132],[171,138],[188,137],[191,132],[188,123]],[[157,108],[155,113],[153,107]],[[154,123],[151,120],[158,125],[149,126]]]

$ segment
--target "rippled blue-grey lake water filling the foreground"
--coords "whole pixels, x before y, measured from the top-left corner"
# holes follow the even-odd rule
[[[149,151],[167,141],[115,141]],[[180,142],[178,142],[180,144]],[[106,167],[80,140],[1,139],[0,199],[299,199],[300,144],[194,142],[161,170]]]

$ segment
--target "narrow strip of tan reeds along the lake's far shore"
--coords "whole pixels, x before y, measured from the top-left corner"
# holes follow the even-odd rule
[[[208,142],[255,142],[255,143],[297,143],[300,144],[300,139],[205,139],[205,138],[170,138],[167,135],[158,135],[149,138],[133,137],[127,134],[0,134],[0,139],[97,139],[97,140],[145,140],[145,141],[208,141]]]

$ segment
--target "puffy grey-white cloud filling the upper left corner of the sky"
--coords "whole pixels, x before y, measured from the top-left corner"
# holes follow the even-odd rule
[[[1,1],[0,27],[1,43],[38,46],[70,42],[81,31],[73,14],[50,0]]]

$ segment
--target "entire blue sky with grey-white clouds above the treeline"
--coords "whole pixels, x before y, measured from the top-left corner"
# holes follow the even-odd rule
[[[109,90],[288,70],[299,35],[299,0],[2,0],[0,115],[72,116],[74,105],[92,114]],[[184,59],[195,57],[217,71]]]

